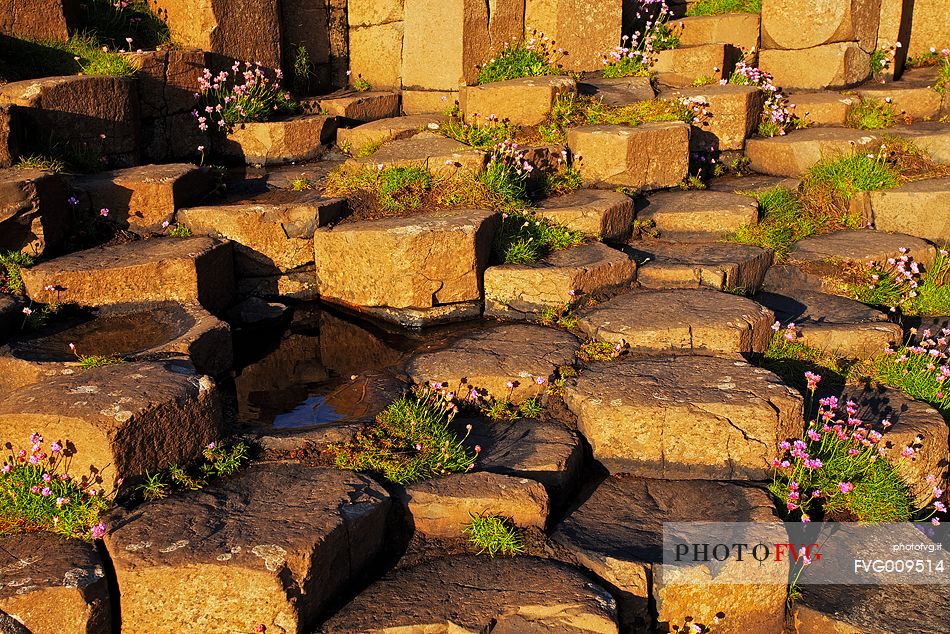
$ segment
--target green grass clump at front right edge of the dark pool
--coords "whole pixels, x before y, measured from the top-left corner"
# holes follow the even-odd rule
[[[327,448],[340,469],[377,473],[394,484],[411,484],[469,471],[475,453],[450,429],[458,406],[441,386],[421,386],[391,403],[376,425]]]

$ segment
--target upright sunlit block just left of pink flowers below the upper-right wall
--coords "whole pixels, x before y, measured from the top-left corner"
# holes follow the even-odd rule
[[[703,116],[693,125],[689,145],[694,152],[741,150],[762,121],[765,94],[757,86],[713,83],[707,86],[664,89],[663,99],[701,101]]]

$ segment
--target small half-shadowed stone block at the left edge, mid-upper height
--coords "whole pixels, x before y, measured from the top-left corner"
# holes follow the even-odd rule
[[[72,224],[66,183],[36,169],[0,169],[0,249],[42,255],[59,248]]]

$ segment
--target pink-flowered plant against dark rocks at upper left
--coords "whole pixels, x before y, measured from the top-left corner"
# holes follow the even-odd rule
[[[216,75],[205,68],[198,78],[201,105],[192,113],[198,129],[228,132],[242,123],[295,111],[297,103],[281,88],[280,80],[280,70],[271,76],[251,62],[234,62],[229,71]]]

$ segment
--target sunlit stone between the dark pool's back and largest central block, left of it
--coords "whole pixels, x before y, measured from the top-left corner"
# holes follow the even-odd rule
[[[239,278],[279,275],[313,265],[313,233],[348,212],[346,200],[315,191],[261,196],[181,209],[177,222],[195,235],[231,240]]]

